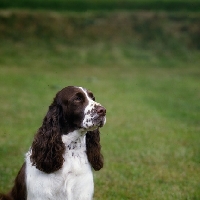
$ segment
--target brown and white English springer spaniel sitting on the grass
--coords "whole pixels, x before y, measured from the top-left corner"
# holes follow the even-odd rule
[[[90,200],[92,168],[103,167],[99,128],[106,109],[92,92],[69,86],[56,94],[26,154],[15,185],[1,200]]]

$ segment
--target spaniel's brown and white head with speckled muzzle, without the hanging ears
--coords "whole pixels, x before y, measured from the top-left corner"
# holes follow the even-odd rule
[[[54,101],[60,106],[63,133],[82,129],[92,131],[106,122],[106,109],[95,101],[92,92],[69,86],[57,93]]]

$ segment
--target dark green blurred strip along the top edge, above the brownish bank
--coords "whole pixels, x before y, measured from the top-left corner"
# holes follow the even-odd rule
[[[199,0],[1,0],[0,8],[62,11],[165,10],[200,11]]]

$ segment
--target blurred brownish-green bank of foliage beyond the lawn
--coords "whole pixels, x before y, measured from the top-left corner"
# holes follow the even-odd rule
[[[200,14],[4,10],[0,11],[0,37],[14,41],[42,38],[70,44],[134,42],[158,51],[200,49]]]

